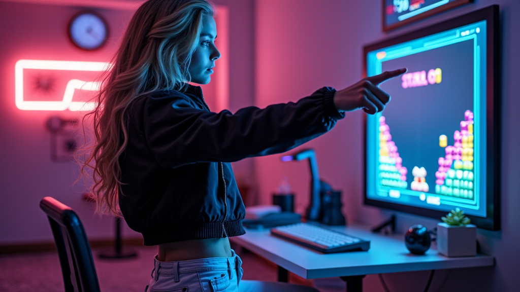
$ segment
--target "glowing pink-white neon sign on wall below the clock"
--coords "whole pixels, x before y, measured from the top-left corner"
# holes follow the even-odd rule
[[[24,111],[92,110],[95,107],[94,102],[74,101],[74,95],[77,95],[78,91],[90,92],[90,94],[98,91],[99,83],[85,81],[85,79],[92,80],[94,76],[109,70],[110,67],[111,64],[105,62],[19,60],[15,65],[16,107]],[[24,73],[36,74],[34,72],[50,76],[49,78],[55,80],[53,83],[57,84],[56,88],[48,90],[46,94],[36,94],[30,86],[30,79],[24,76]],[[63,88],[64,91],[61,91]],[[30,97],[34,99],[34,96],[37,100],[30,99]]]

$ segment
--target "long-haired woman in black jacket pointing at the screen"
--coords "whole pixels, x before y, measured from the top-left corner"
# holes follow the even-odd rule
[[[390,97],[378,84],[406,70],[296,103],[213,113],[187,82],[210,82],[216,37],[205,0],[149,0],[137,10],[91,113],[95,145],[83,168],[94,170],[98,210],[122,215],[159,247],[149,291],[315,291],[241,281],[228,237],[244,234],[245,208],[230,162],[288,151],[344,111],[382,111]]]

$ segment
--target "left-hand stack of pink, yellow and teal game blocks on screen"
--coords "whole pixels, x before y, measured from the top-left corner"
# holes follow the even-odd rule
[[[408,169],[402,166],[397,146],[392,141],[390,127],[385,123],[385,117],[379,118],[379,179],[386,187],[406,189]]]

